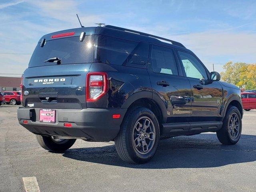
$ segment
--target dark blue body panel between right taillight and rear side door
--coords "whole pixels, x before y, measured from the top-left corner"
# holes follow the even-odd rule
[[[152,98],[152,87],[145,68],[94,63],[90,72],[107,72],[110,86],[100,100],[87,102],[88,108],[128,108],[124,103],[139,92],[146,92],[147,97]]]

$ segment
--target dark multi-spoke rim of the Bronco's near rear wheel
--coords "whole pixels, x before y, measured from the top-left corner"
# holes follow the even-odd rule
[[[149,153],[155,143],[156,130],[152,120],[146,116],[140,117],[134,124],[132,144],[140,154]]]

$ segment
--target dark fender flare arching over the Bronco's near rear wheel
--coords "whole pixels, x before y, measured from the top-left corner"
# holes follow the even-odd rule
[[[167,120],[167,107],[168,105],[164,102],[164,98],[161,98],[158,94],[155,92],[152,92],[152,90],[142,90],[139,92],[134,92],[132,95],[130,95],[121,108],[129,108],[130,105],[139,99],[150,99],[152,102],[158,105],[162,112],[162,123],[166,123]]]

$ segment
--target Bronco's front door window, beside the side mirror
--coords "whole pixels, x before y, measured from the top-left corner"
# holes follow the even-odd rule
[[[207,80],[205,68],[193,55],[178,51],[187,77]]]

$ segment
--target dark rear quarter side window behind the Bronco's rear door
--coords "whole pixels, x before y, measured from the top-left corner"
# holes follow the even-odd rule
[[[145,65],[148,43],[133,42],[108,36],[96,36],[94,62],[115,65]]]

